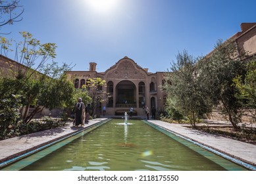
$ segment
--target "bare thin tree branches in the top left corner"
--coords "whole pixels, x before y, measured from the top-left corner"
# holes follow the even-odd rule
[[[20,16],[24,12],[24,9],[20,10],[22,6],[19,3],[20,1],[17,0],[0,1],[0,27],[22,20]]]

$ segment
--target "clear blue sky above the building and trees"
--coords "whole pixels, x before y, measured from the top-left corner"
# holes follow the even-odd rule
[[[124,57],[149,72],[166,72],[184,50],[210,53],[218,39],[256,22],[255,0],[20,0],[22,21],[1,27],[3,37],[21,41],[30,32],[56,43],[56,62],[105,72]]]

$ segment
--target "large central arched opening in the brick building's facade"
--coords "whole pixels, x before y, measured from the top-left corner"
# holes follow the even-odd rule
[[[115,90],[116,107],[136,107],[136,85],[132,81],[120,81]]]

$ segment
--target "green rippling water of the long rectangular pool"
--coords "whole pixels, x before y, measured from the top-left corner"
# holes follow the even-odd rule
[[[69,143],[59,143],[62,147],[49,147],[10,168],[28,171],[244,170],[188,141],[180,143],[182,140],[176,141],[140,120],[128,120],[127,125],[123,120],[111,120],[66,141]]]

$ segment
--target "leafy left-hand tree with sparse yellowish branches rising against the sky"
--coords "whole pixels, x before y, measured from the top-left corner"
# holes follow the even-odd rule
[[[56,56],[55,43],[41,44],[32,34],[21,34],[24,41],[16,43],[13,50],[13,41],[1,37],[1,54],[7,56],[9,51],[14,51],[14,60],[18,64],[10,61],[11,69],[3,71],[10,85],[6,84],[7,87],[0,93],[21,96],[21,104],[24,106],[21,118],[24,124],[28,124],[45,107],[51,109],[71,104],[74,87],[63,75],[64,71],[70,70],[70,66],[65,63],[59,66],[53,61]],[[35,108],[28,112],[31,105]]]

